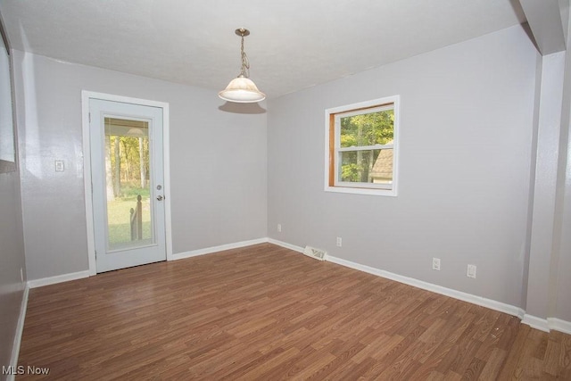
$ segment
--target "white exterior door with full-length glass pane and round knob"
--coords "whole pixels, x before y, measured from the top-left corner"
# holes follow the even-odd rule
[[[166,260],[162,109],[89,99],[97,272]]]

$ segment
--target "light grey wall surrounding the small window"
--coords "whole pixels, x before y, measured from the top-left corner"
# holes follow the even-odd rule
[[[517,26],[270,100],[269,236],[521,306],[537,57]],[[386,95],[398,197],[324,192],[324,110]]]

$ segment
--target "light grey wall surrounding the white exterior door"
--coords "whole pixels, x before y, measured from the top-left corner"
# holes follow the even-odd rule
[[[14,60],[29,279],[88,269],[81,90],[170,104],[174,253],[267,235],[265,113],[222,111],[211,90],[22,52]]]

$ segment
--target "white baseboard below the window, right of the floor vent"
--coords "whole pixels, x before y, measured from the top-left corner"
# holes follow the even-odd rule
[[[327,261],[351,268],[358,269],[360,271],[367,272],[369,274],[377,275],[378,277],[385,277],[387,279],[392,279],[397,282],[404,283],[405,285],[415,286],[422,288],[423,290],[431,291],[436,294],[443,294],[445,296],[450,296],[454,299],[459,299],[460,301],[470,302],[472,304],[480,305],[495,311],[501,311],[508,313],[509,315],[517,316],[522,318],[524,316],[524,311],[519,307],[504,302],[497,302],[492,299],[487,299],[482,296],[477,296],[474,294],[463,293],[448,287],[434,285],[432,283],[424,282],[422,280],[415,279],[413,277],[403,277],[398,274],[394,274],[389,271],[382,269],[375,269],[366,265],[361,265],[360,263],[355,263],[352,261],[343,260],[341,258],[336,258],[333,256],[327,256]]]

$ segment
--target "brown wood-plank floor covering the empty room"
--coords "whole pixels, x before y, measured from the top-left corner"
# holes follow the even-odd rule
[[[30,290],[19,365],[69,380],[571,380],[571,336],[258,244]]]

